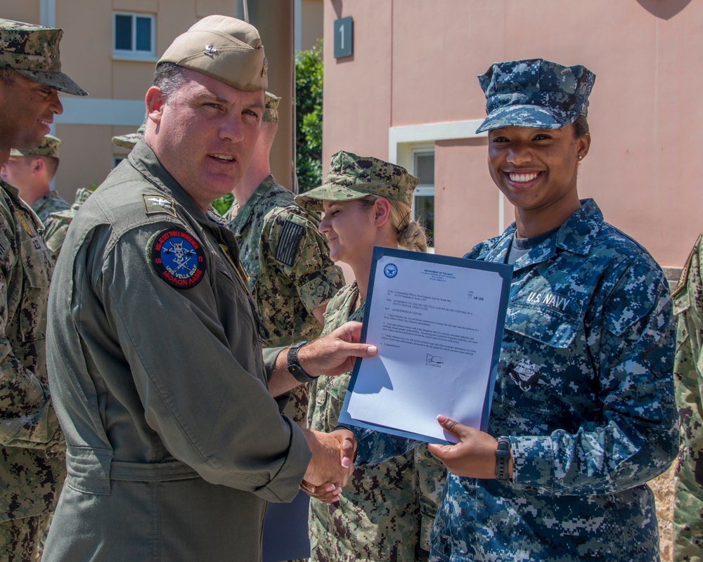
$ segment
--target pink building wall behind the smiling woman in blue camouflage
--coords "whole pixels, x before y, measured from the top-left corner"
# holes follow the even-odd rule
[[[354,18],[354,55],[333,58],[333,22]],[[482,119],[476,74],[547,58],[597,75],[593,143],[579,177],[605,218],[664,266],[703,230],[703,3],[690,0],[325,1],[323,159],[389,157],[392,127]],[[512,221],[484,138],[437,140],[436,249],[460,255]],[[402,163],[402,162],[401,162]]]

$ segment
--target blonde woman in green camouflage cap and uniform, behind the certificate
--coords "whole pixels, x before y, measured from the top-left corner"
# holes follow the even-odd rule
[[[374,246],[427,250],[423,229],[410,220],[417,183],[400,166],[341,151],[325,184],[296,198],[302,207],[325,212],[319,229],[330,258],[348,263],[356,277],[328,303],[323,333],[362,320]],[[311,429],[335,429],[350,376],[311,383]],[[356,469],[337,502],[311,501],[311,561],[426,561],[444,478],[444,466],[426,446]]]

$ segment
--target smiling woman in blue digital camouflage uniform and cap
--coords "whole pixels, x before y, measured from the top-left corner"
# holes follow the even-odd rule
[[[451,473],[432,561],[659,560],[645,482],[678,448],[671,299],[652,256],[579,200],[594,81],[542,59],[479,76],[515,223],[465,257],[515,269],[489,431],[439,416],[460,443],[430,445]],[[357,466],[412,445],[354,433]]]

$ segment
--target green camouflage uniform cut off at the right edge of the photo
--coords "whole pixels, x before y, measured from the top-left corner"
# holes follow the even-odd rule
[[[703,561],[703,235],[691,251],[673,310],[678,315],[673,377],[681,417],[681,448],[676,465],[673,557]]]

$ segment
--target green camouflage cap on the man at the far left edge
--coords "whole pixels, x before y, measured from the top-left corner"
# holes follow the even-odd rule
[[[87,96],[61,72],[58,44],[63,30],[0,19],[0,68],[12,68],[25,78],[75,96]]]

